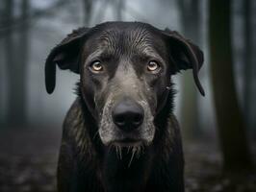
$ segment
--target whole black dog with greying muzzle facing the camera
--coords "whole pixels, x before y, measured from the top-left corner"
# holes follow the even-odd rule
[[[107,22],[73,31],[45,63],[48,93],[56,64],[80,74],[78,98],[64,121],[60,192],[183,192],[184,160],[172,114],[171,76],[203,54],[170,30],[140,22]]]

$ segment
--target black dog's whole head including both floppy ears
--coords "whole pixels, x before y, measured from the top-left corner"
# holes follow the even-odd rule
[[[80,91],[98,122],[104,145],[149,145],[154,118],[165,107],[170,77],[198,70],[203,54],[177,32],[140,22],[108,22],[81,28],[56,46],[45,63],[48,93],[55,87],[56,64],[80,74]]]

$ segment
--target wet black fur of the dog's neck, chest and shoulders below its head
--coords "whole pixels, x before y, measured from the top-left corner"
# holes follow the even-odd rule
[[[155,119],[157,128],[161,129],[157,129],[152,147],[143,149],[141,156],[135,156],[130,165],[128,149],[121,149],[122,161],[115,149],[105,151],[96,133],[96,123],[83,99],[78,97],[64,121],[59,191],[182,192],[184,160],[178,123],[170,113],[172,97],[170,92],[166,107]],[[106,173],[113,175],[106,176]]]

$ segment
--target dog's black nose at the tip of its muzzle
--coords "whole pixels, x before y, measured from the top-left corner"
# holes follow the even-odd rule
[[[131,132],[141,126],[144,112],[139,104],[126,99],[115,106],[112,116],[115,125],[120,130]]]

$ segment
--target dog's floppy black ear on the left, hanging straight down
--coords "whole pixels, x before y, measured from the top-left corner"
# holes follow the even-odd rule
[[[67,35],[60,44],[54,47],[45,61],[45,85],[49,94],[54,91],[56,81],[56,64],[61,69],[79,73],[79,54],[82,39],[89,28],[79,28]]]

